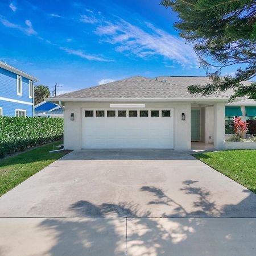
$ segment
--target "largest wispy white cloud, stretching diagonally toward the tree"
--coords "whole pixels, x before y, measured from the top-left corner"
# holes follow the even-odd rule
[[[118,19],[98,26],[95,33],[102,36],[104,42],[115,45],[118,52],[131,53],[142,58],[160,55],[182,66],[197,65],[197,56],[191,46],[183,39],[148,22],[144,23],[144,28],[139,28]]]

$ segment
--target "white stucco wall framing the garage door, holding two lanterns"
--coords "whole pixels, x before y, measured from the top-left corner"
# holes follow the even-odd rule
[[[64,110],[64,148],[81,149],[81,109],[109,108],[116,102],[65,102]],[[120,103],[120,102],[119,102]],[[121,102],[122,104],[145,104],[145,108],[174,108],[174,149],[191,149],[191,103],[190,102]],[[143,108],[141,108],[143,110]],[[71,113],[75,120],[71,121]],[[181,120],[185,113],[185,120]]]

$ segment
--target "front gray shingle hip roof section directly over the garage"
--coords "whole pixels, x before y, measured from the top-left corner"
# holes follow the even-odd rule
[[[212,94],[210,96],[192,96],[186,86],[171,84],[146,77],[135,76],[127,79],[109,82],[108,84],[97,85],[90,88],[77,90],[76,92],[65,93],[52,98],[58,99],[191,99],[209,98],[226,99],[226,96]],[[51,98],[50,98],[51,99]]]

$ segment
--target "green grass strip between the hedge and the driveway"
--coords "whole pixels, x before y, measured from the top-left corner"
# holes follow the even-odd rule
[[[67,151],[49,153],[63,142],[53,142],[34,150],[0,160],[0,196],[36,174],[50,163],[67,154]]]

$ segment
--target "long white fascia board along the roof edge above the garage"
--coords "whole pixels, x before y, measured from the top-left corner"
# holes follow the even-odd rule
[[[228,98],[47,98],[47,102],[228,102]]]

